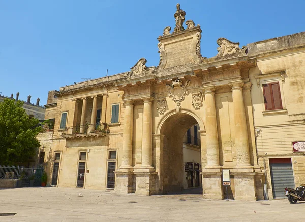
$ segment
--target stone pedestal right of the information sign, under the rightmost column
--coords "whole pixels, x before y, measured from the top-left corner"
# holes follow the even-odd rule
[[[232,173],[234,175],[235,200],[256,201],[256,173]]]

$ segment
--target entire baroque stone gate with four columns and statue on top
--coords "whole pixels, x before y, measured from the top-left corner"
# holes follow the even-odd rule
[[[125,125],[115,189],[146,195],[180,190],[181,138],[198,123],[203,197],[223,198],[222,169],[230,169],[235,199],[256,200],[263,196],[263,173],[256,159],[248,74],[256,61],[246,46],[225,38],[217,40],[215,57],[201,56],[200,25],[188,20],[184,30],[185,14],[177,5],[174,32],[166,27],[158,38],[159,65],[146,67],[142,58],[117,84],[124,91]],[[134,115],[139,110],[142,126]],[[135,149],[136,143],[142,149]]]

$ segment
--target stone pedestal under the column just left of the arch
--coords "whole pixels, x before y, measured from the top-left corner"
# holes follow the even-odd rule
[[[134,172],[136,175],[136,191],[138,195],[156,195],[158,193],[159,182],[157,180],[157,172],[147,172],[140,170],[150,170],[150,169],[137,169]]]

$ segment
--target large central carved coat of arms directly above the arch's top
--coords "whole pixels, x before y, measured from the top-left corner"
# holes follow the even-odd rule
[[[166,84],[169,89],[168,97],[172,98],[177,104],[177,113],[180,112],[181,102],[185,99],[185,96],[189,94],[187,86],[190,84],[191,80],[187,80],[184,84],[180,79],[172,81],[172,85]]]

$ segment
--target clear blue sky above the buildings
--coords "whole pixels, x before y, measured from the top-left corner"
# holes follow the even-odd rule
[[[216,40],[240,46],[303,32],[305,1],[178,1],[202,29],[201,54]],[[0,0],[0,92],[46,104],[49,90],[126,72],[140,58],[159,63],[158,40],[175,25],[172,0]]]

